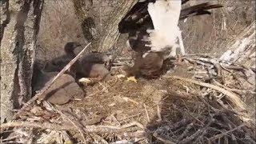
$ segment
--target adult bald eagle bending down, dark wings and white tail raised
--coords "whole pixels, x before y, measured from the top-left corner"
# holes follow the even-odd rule
[[[222,7],[206,2],[182,9],[182,3],[187,1],[138,2],[119,23],[120,33],[129,34],[130,47],[138,52],[134,67],[129,70],[136,73],[134,75],[155,77],[160,74],[162,61],[176,55],[177,37],[180,34],[178,20],[194,15],[210,14],[208,10]]]

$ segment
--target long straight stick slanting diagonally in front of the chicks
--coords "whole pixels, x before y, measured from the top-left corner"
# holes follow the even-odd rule
[[[90,42],[91,43],[91,42]],[[42,98],[43,94],[46,93],[46,90],[48,90],[50,88],[51,85],[54,84],[54,82],[60,78],[62,76],[62,74],[64,74],[66,72],[66,70],[68,70],[70,68],[70,66],[72,66],[74,64],[74,62],[76,62],[78,60],[78,58],[80,58],[80,56],[86,51],[86,48],[88,46],[90,46],[90,43],[88,43],[86,45],[85,48],[83,48],[83,50],[74,58],[72,59],[55,77],[54,79],[50,82],[49,85],[45,86],[38,94],[36,94],[33,98],[31,98],[28,102],[26,102],[24,104],[24,106],[22,106],[22,108],[20,110],[18,110],[18,112],[16,114],[14,114],[13,119],[18,118],[18,115],[22,113],[23,110],[26,109],[27,106],[30,106],[35,100],[37,100],[38,98]]]

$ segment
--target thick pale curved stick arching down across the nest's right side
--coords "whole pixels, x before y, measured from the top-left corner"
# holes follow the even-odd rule
[[[214,90],[218,90],[219,92],[222,92],[222,94],[226,94],[226,96],[230,99],[231,102],[233,102],[235,104],[235,106],[238,106],[242,110],[246,110],[246,104],[244,102],[242,102],[242,100],[238,97],[238,95],[236,95],[234,93],[231,93],[230,91],[225,90],[225,89],[223,89],[219,86],[214,86],[214,85],[211,85],[211,84],[206,83],[206,82],[199,82],[199,81],[196,81],[194,79],[181,78],[181,77],[177,77],[177,76],[166,76],[166,78],[176,78],[176,79],[179,79],[179,80],[182,80],[182,81],[194,83],[194,84],[199,85],[199,86],[205,86],[205,87],[208,87],[208,88],[211,88],[211,89],[214,89]]]

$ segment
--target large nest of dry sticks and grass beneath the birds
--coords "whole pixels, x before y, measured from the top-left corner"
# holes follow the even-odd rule
[[[254,30],[255,24],[222,58],[179,57],[159,79],[117,77],[86,87],[86,98],[65,106],[31,104],[1,125],[2,135],[11,133],[1,141],[255,143]],[[116,58],[123,62],[129,61]]]

